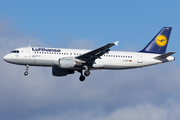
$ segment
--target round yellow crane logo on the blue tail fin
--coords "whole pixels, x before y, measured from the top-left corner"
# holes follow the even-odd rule
[[[156,37],[156,44],[160,47],[164,47],[167,44],[167,38],[164,35],[158,35]]]

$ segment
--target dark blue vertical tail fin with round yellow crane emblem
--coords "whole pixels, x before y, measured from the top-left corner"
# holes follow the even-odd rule
[[[163,27],[140,52],[164,54],[168,45],[171,29],[172,27]]]

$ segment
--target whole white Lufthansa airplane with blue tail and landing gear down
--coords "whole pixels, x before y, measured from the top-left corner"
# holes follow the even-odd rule
[[[90,75],[90,70],[121,70],[170,62],[175,52],[166,52],[172,27],[163,27],[147,46],[138,52],[110,51],[118,42],[109,43],[95,50],[63,49],[45,47],[22,47],[4,56],[8,63],[29,66],[52,67],[54,76],[67,76],[80,72],[80,81]],[[83,74],[83,70],[85,70]]]

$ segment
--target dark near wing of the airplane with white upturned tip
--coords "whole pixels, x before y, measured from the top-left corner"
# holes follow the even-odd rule
[[[109,52],[110,51],[110,47],[114,46],[114,45],[118,45],[118,42],[115,42],[115,43],[109,43],[105,46],[102,46],[98,49],[95,49],[95,50],[92,50],[88,53],[85,53],[85,54],[82,54],[80,56],[77,56],[76,59],[80,59],[82,61],[85,61],[86,63],[90,63],[90,64],[93,64],[94,61],[97,59],[97,58],[100,58],[102,55],[104,55],[105,53]]]

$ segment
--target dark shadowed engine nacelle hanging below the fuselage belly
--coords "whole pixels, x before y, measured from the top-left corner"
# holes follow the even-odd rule
[[[74,74],[74,70],[68,70],[68,69],[53,67],[52,68],[52,74],[54,76],[66,76],[68,74]]]

